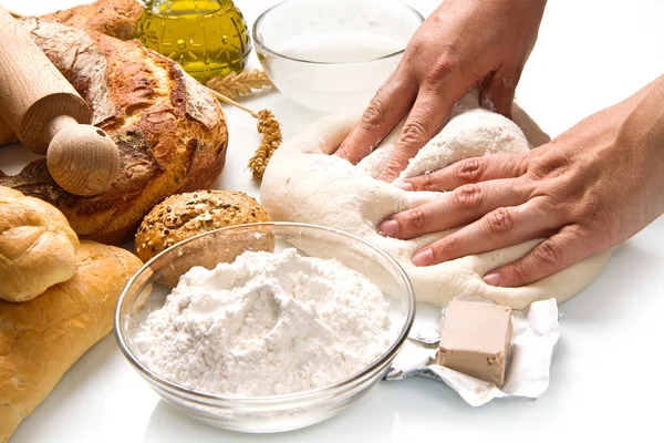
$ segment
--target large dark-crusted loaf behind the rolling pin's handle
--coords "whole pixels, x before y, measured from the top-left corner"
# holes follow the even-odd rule
[[[39,19],[23,25],[91,105],[92,123],[117,144],[121,175],[103,194],[74,196],[39,159],[17,176],[0,174],[0,185],[53,204],[79,237],[105,244],[131,239],[165,197],[211,187],[224,168],[228,133],[207,89],[138,41]]]

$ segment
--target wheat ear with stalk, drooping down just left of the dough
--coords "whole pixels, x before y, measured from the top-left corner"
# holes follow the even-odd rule
[[[274,154],[274,151],[277,151],[282,142],[281,126],[277,119],[274,119],[274,114],[269,110],[262,110],[256,113],[215,90],[210,89],[209,91],[218,100],[248,112],[253,119],[258,120],[257,130],[261,135],[260,146],[258,146],[258,150],[256,150],[247,166],[251,169],[253,179],[261,179],[266,172],[266,167],[268,167],[268,163],[270,163],[272,154]]]

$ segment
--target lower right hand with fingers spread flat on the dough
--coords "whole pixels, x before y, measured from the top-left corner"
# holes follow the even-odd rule
[[[421,249],[417,266],[543,238],[489,271],[488,285],[520,287],[632,237],[664,213],[664,75],[528,153],[468,158],[406,181],[452,190],[394,215],[378,229],[409,239],[464,226]]]

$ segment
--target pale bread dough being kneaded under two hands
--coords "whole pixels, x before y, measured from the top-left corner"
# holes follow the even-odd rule
[[[526,152],[530,148],[519,126],[497,113],[481,109],[478,102],[478,93],[469,92],[455,107],[443,131],[419,151],[392,184],[376,177],[395,147],[401,126],[372,154],[353,166],[330,154],[346,137],[360,115],[347,113],[324,117],[277,150],[262,181],[261,204],[274,222],[298,222],[336,228],[385,250],[409,276],[418,301],[445,307],[457,296],[477,295],[513,309],[525,309],[532,301],[549,298],[563,302],[600,274],[611,251],[594,255],[532,285],[497,288],[486,285],[481,277],[489,270],[525,256],[542,239],[435,266],[416,267],[411,261],[415,251],[455,229],[412,240],[386,238],[376,230],[380,223],[392,214],[419,206],[442,195],[405,192],[396,186],[404,178],[439,169],[463,158]],[[531,123],[522,124],[522,127],[531,128]],[[539,135],[530,140],[541,140],[541,134]]]

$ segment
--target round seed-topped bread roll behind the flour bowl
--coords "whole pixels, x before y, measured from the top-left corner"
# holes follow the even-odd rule
[[[240,192],[198,190],[174,195],[143,219],[136,234],[136,255],[147,261],[198,234],[261,222],[270,222],[270,217],[256,199]]]

